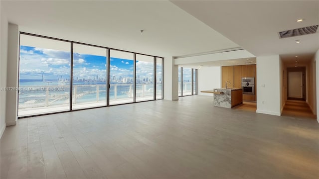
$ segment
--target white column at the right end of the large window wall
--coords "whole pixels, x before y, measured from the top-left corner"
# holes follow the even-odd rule
[[[178,100],[178,66],[172,57],[164,58],[164,99]]]

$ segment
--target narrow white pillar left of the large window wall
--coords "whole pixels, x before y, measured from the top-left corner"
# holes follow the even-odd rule
[[[7,52],[7,87],[18,87],[18,57],[19,54],[19,29],[18,25],[8,25],[8,52]],[[17,120],[17,98],[16,90],[6,91],[6,126],[15,125]]]

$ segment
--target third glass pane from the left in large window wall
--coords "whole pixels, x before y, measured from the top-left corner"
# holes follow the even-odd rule
[[[133,102],[134,54],[110,50],[110,105]]]

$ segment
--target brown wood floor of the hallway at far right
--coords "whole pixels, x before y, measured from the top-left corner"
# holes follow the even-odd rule
[[[287,100],[282,112],[283,116],[316,119],[309,105],[303,100]]]

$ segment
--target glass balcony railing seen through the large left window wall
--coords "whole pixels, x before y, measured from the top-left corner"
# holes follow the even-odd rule
[[[70,86],[24,86],[20,89],[23,90],[19,91],[19,109],[34,109],[37,107],[56,105],[69,106]],[[131,99],[133,102],[133,84],[111,84],[109,90],[110,103],[112,103],[112,101]],[[157,94],[161,96],[161,84],[157,84]],[[72,105],[76,106],[77,104],[85,103],[105,105],[106,95],[106,85],[73,85]],[[153,98],[154,84],[136,84],[137,100],[152,100]]]

